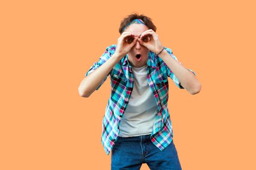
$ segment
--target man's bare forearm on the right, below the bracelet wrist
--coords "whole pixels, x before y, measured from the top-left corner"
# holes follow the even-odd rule
[[[199,93],[201,84],[197,77],[187,68],[179,64],[170,54],[163,50],[158,56],[172,70],[180,84],[191,94]]]

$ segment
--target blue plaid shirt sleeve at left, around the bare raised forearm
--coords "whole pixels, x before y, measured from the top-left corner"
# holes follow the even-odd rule
[[[105,63],[112,55],[111,49],[109,47],[106,48],[104,53],[99,57],[99,60],[97,62],[94,62],[94,64],[89,68],[89,70],[85,73],[84,77],[88,76],[90,73],[92,73],[94,70],[99,68],[103,63]],[[106,81],[107,77],[111,74],[112,70],[106,75],[106,77],[103,79],[103,81],[98,85],[96,90],[99,89],[99,87]]]

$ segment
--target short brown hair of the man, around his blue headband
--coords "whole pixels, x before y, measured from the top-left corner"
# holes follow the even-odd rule
[[[134,19],[141,19],[149,29],[152,29],[154,32],[157,31],[157,27],[153,24],[152,19],[150,17],[144,16],[143,14],[138,15],[134,12],[123,18],[123,20],[120,23],[119,33],[122,34],[123,28]]]

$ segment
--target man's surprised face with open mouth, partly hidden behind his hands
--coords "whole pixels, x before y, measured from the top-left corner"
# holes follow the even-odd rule
[[[131,24],[124,31],[131,32],[136,36],[140,37],[141,33],[149,30],[149,28],[144,24]],[[138,40],[133,48],[128,52],[128,60],[131,63],[132,67],[140,68],[147,64],[148,61],[148,52],[149,50],[142,46]],[[137,58],[136,55],[140,54],[140,58]]]

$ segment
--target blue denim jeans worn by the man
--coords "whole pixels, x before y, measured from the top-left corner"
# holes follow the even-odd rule
[[[111,152],[111,170],[139,170],[144,163],[150,170],[181,170],[173,140],[161,151],[150,135],[118,136]]]

